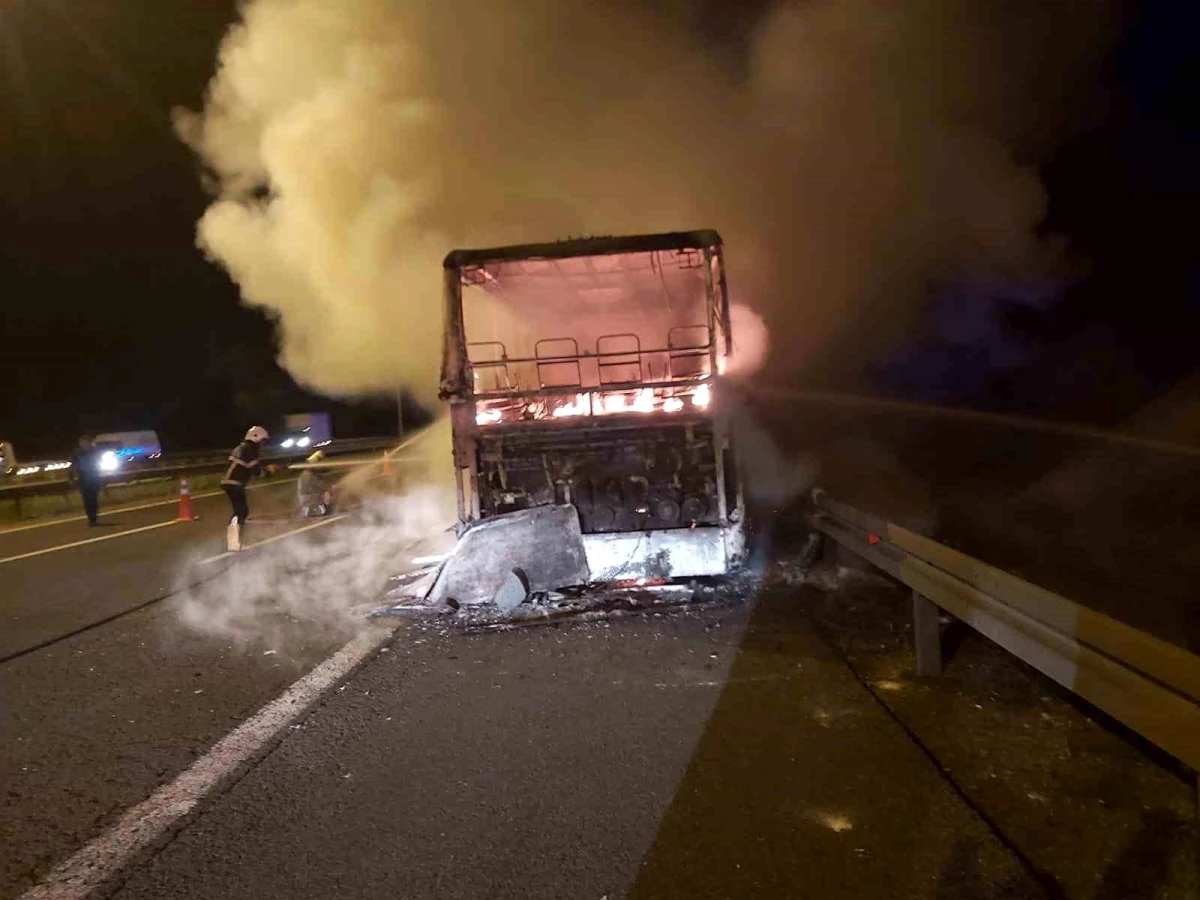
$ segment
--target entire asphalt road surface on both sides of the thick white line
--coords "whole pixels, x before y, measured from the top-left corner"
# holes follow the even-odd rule
[[[305,527],[290,503],[290,485],[258,491],[251,540]],[[134,532],[174,509],[122,514],[124,536],[0,563],[0,656],[19,654],[0,665],[0,898],[340,647],[410,536],[352,516],[233,565],[223,498],[199,506],[197,523]],[[0,559],[100,534],[0,534]],[[671,614],[402,624],[116,895],[1195,890],[1181,773],[985,641],[916,678],[902,590],[779,572]]]

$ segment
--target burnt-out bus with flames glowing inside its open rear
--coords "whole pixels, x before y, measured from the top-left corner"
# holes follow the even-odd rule
[[[460,545],[558,510],[570,534],[529,532],[535,569],[576,542],[575,577],[592,582],[737,569],[744,498],[715,396],[732,349],[720,236],[460,250],[444,275]]]

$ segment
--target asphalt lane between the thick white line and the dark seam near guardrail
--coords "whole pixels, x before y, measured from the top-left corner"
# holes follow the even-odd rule
[[[406,632],[118,896],[916,896],[959,841],[1020,878],[811,634],[745,625]]]

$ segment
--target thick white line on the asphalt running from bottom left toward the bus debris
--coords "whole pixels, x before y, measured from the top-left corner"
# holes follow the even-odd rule
[[[160,787],[121,816],[113,828],[55,866],[41,884],[22,894],[20,900],[84,900],[182,824],[206,794],[259,756],[284,727],[382,647],[396,628],[373,626],[355,637],[222,738],[184,774]]]

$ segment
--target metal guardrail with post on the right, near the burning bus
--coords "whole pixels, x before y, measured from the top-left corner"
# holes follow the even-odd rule
[[[1200,769],[1200,656],[821,491],[814,506],[815,528],[912,588],[923,674],[941,668],[941,608]]]

